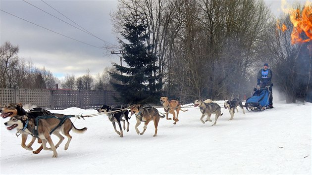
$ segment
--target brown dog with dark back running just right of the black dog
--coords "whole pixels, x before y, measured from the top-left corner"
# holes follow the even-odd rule
[[[158,110],[152,106],[142,107],[140,104],[134,104],[130,106],[131,115],[135,114],[137,119],[137,124],[135,125],[135,131],[138,134],[143,135],[147,129],[147,125],[153,120],[155,125],[155,134],[154,137],[157,136],[157,127],[160,118],[164,118],[164,116],[160,116]],[[143,132],[140,133],[138,126],[141,122],[145,122],[143,127]]]

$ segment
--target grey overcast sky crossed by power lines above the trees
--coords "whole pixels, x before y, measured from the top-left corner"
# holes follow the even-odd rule
[[[274,15],[282,13],[281,0],[264,1]],[[288,4],[298,1],[306,2],[286,0]],[[102,73],[105,67],[111,67],[111,62],[120,62],[117,55],[102,48],[105,43],[117,42],[109,15],[116,10],[117,3],[117,0],[0,0],[0,9],[10,13],[0,11],[0,44],[8,41],[18,45],[20,58],[30,59],[36,67],[45,67],[58,78],[66,73],[79,77],[87,69],[93,75]],[[52,7],[96,37],[83,32]]]

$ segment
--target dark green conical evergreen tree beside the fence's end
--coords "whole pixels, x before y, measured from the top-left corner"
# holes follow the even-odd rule
[[[122,58],[127,67],[113,63],[114,68],[121,74],[110,72],[113,79],[121,82],[113,83],[113,87],[121,96],[117,100],[124,104],[155,104],[161,87],[157,81],[157,57],[150,51],[153,46],[147,42],[147,26],[139,15],[133,14],[127,21],[121,35],[128,42],[119,40],[125,52]]]

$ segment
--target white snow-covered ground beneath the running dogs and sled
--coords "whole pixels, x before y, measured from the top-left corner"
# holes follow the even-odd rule
[[[273,109],[246,111],[245,115],[238,108],[231,121],[228,110],[222,108],[216,126],[211,126],[214,115],[212,122],[203,124],[198,107],[185,109],[189,111],[180,111],[176,125],[160,119],[156,137],[153,122],[144,135],[138,135],[135,116],[124,137],[117,135],[105,114],[71,118],[76,128],[88,130],[83,134],[71,131],[69,149],[64,150],[65,138],[57,148],[57,158],[52,158],[52,151],[34,155],[25,150],[20,146],[21,136],[16,138],[16,131],[7,131],[2,124],[0,174],[311,174],[312,103],[274,102]],[[164,113],[163,108],[158,110]],[[79,108],[51,111],[97,113]],[[54,135],[52,139],[58,140]],[[39,146],[36,142],[32,147]]]

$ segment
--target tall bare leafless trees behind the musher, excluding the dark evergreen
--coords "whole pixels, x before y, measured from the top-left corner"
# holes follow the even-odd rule
[[[262,0],[119,0],[111,16],[116,35],[129,43],[132,35],[124,31],[130,19],[146,25],[149,39],[142,44],[152,45],[149,53],[157,57],[154,75],[160,76],[163,96],[183,103],[243,98],[256,86],[256,74],[266,62],[273,71],[273,94],[284,92],[288,103],[312,101],[311,42],[292,45],[289,15],[279,19],[288,30],[278,30]],[[123,43],[120,48],[127,52]],[[123,59],[131,65],[128,56]],[[133,72],[127,72],[129,79],[137,76]]]

